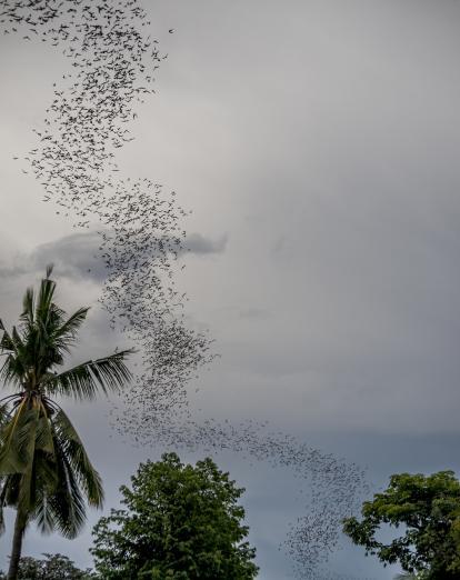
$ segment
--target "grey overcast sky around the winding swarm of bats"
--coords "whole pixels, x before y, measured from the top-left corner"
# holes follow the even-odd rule
[[[268,420],[366,468],[372,491],[396,472],[459,473],[460,6],[143,6],[168,58],[118,162],[193,211],[178,283],[190,323],[209,329],[220,357],[194,380],[192,408]],[[12,161],[33,147],[68,66],[50,46],[0,38],[0,313],[12,323],[24,288],[54,261],[62,306],[93,306],[83,358],[126,341],[98,307],[100,272],[87,272],[93,234],[56,216]],[[117,507],[118,487],[163,449],[120,438],[109,401],[66,404],[103,477],[106,508]],[[218,463],[247,489],[260,578],[291,578],[278,546],[301,509],[301,483],[237,453]],[[90,566],[99,516],[73,542],[31,529],[24,552]],[[341,543],[333,572],[383,580],[398,571]]]

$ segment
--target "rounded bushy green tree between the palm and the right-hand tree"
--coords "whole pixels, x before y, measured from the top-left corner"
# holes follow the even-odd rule
[[[128,510],[94,527],[96,569],[106,580],[251,580],[254,548],[243,541],[243,489],[211,459],[196,467],[176,453],[141,463],[132,489],[120,488]]]

